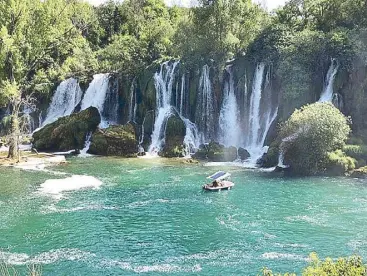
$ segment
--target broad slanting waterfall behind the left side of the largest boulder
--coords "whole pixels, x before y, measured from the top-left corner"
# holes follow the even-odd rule
[[[40,125],[44,127],[61,117],[73,113],[75,107],[81,101],[82,93],[78,81],[74,78],[69,78],[60,83],[52,97],[46,118]]]

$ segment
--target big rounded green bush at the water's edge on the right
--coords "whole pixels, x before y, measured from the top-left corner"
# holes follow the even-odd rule
[[[330,153],[343,148],[349,133],[348,119],[337,108],[315,103],[296,110],[282,125],[280,149],[295,173],[319,173],[331,157],[336,159]]]

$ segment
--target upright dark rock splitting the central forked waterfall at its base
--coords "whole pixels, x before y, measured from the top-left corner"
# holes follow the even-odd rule
[[[177,115],[169,117],[166,127],[166,142],[160,155],[162,157],[183,157],[185,135],[186,127],[182,119]]]

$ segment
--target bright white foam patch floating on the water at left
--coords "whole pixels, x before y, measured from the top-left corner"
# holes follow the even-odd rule
[[[98,189],[102,182],[93,176],[73,175],[64,179],[49,179],[41,184],[39,192],[56,199],[63,197],[63,192],[77,191],[85,188]]]

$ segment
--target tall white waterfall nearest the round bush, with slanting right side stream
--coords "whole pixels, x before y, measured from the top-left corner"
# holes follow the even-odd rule
[[[270,82],[270,73],[268,71],[265,85],[263,85],[264,72],[265,64],[259,63],[256,67],[252,84],[248,115],[248,137],[245,142],[245,148],[251,155],[251,163],[256,163],[267,151],[267,147],[264,147],[265,139],[278,114],[278,107],[273,108],[271,98],[263,97],[263,90]]]

